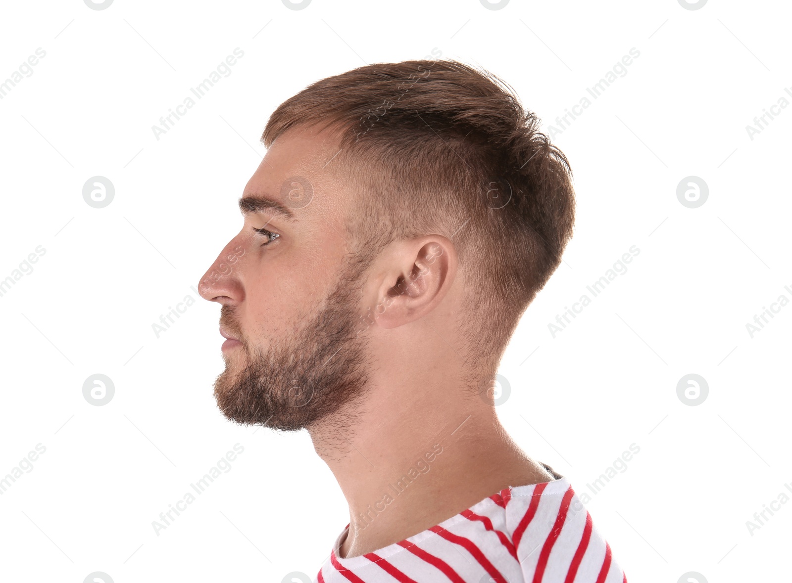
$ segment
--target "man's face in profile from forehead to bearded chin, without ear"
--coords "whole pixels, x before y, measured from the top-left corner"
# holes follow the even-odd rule
[[[215,282],[215,262],[200,284],[204,298],[222,305],[226,367],[215,398],[234,422],[300,430],[351,406],[367,384],[366,265],[345,255],[337,191],[321,172],[328,152],[322,139],[295,132],[272,145],[243,199],[277,206],[242,202],[242,232],[220,254],[235,250],[234,267]],[[311,185],[307,203],[290,198],[295,176]]]

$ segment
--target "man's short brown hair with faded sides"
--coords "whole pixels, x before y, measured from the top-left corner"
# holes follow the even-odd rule
[[[492,374],[572,237],[572,171],[539,123],[486,70],[410,60],[316,81],[280,104],[261,140],[297,126],[337,132],[327,168],[355,189],[346,225],[364,257],[394,240],[451,240],[466,285],[468,342],[455,349]]]

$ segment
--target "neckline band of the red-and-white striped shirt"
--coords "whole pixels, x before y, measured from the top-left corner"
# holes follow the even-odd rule
[[[558,475],[554,471],[551,471],[550,473],[553,475]],[[509,493],[512,498],[531,496],[533,495],[536,486],[540,486],[541,484],[542,483],[526,484],[524,486],[508,486],[508,488],[504,488],[503,490],[497,492],[496,494],[500,495],[502,498],[504,492],[506,490],[509,490]],[[566,492],[566,490],[569,488],[569,479],[566,479],[564,476],[559,476],[558,479],[554,479],[552,482],[545,482],[544,484],[545,487],[542,490],[542,493],[539,494],[540,496],[563,495]],[[491,494],[486,498],[484,498],[483,500],[481,500],[480,502],[476,502],[474,505],[470,506],[470,508],[468,508],[467,510],[470,510],[470,512],[472,513],[480,514],[484,509],[491,508],[491,505],[497,505],[496,502],[494,502],[492,499],[492,496],[495,496],[496,494]],[[503,511],[505,512],[505,509],[503,509]],[[463,516],[464,512],[465,510],[463,510],[458,514],[455,514],[451,518],[447,518],[445,521],[436,524],[435,527],[440,526],[441,528],[448,529],[449,527],[453,526],[454,524],[457,524],[460,521],[467,521],[468,519]],[[431,527],[431,528],[435,528],[435,527]],[[418,532],[413,536],[409,536],[406,539],[402,539],[401,541],[399,541],[399,543],[405,543],[405,542],[413,543],[418,545],[418,547],[420,547],[421,543],[426,539],[432,536],[437,536],[437,533],[433,532],[431,528],[427,528],[426,530]],[[369,558],[367,558],[366,555],[368,555],[369,553],[367,553],[366,555],[359,555],[356,557],[346,557],[346,558],[341,558],[338,556],[338,548],[341,547],[341,543],[347,536],[348,532],[349,532],[349,524],[347,524],[344,530],[341,532],[341,534],[336,537],[336,541],[335,543],[333,543],[333,552],[332,552],[332,556],[334,560],[338,562],[342,567],[349,570],[356,570],[366,565],[373,565],[376,562],[376,559],[374,561],[371,561]],[[383,559],[390,558],[393,555],[396,555],[402,551],[407,550],[405,547],[402,547],[402,545],[399,543],[389,544],[386,547],[377,549],[376,551],[371,551],[371,553],[377,555],[379,558],[383,558]]]

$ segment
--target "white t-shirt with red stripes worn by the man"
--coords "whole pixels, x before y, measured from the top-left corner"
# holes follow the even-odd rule
[[[348,528],[337,537],[314,583],[627,580],[569,480],[561,476],[554,482],[505,488],[399,543],[340,558],[337,551]]]

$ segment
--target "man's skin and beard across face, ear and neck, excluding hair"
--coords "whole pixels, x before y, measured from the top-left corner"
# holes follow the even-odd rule
[[[332,134],[303,127],[276,139],[243,196],[267,193],[288,205],[281,185],[303,176],[310,203],[292,209],[295,222],[268,211],[246,216],[199,291],[223,306],[221,327],[239,340],[223,349],[221,410],[237,422],[307,429],[349,505],[338,551],[345,558],[413,536],[508,486],[553,477],[508,436],[491,398],[463,380],[466,339],[456,318],[476,283],[458,271],[452,241],[427,233],[392,242],[359,273],[345,263],[359,249],[344,222],[354,194],[328,164],[338,150]],[[261,247],[267,239],[252,228],[265,225],[280,237]],[[234,254],[229,273],[223,262]],[[314,349],[327,358],[311,361]],[[428,461],[433,447],[442,451]],[[430,469],[422,465],[426,473],[395,494],[390,484],[421,458]],[[382,510],[364,521],[378,503]]]

